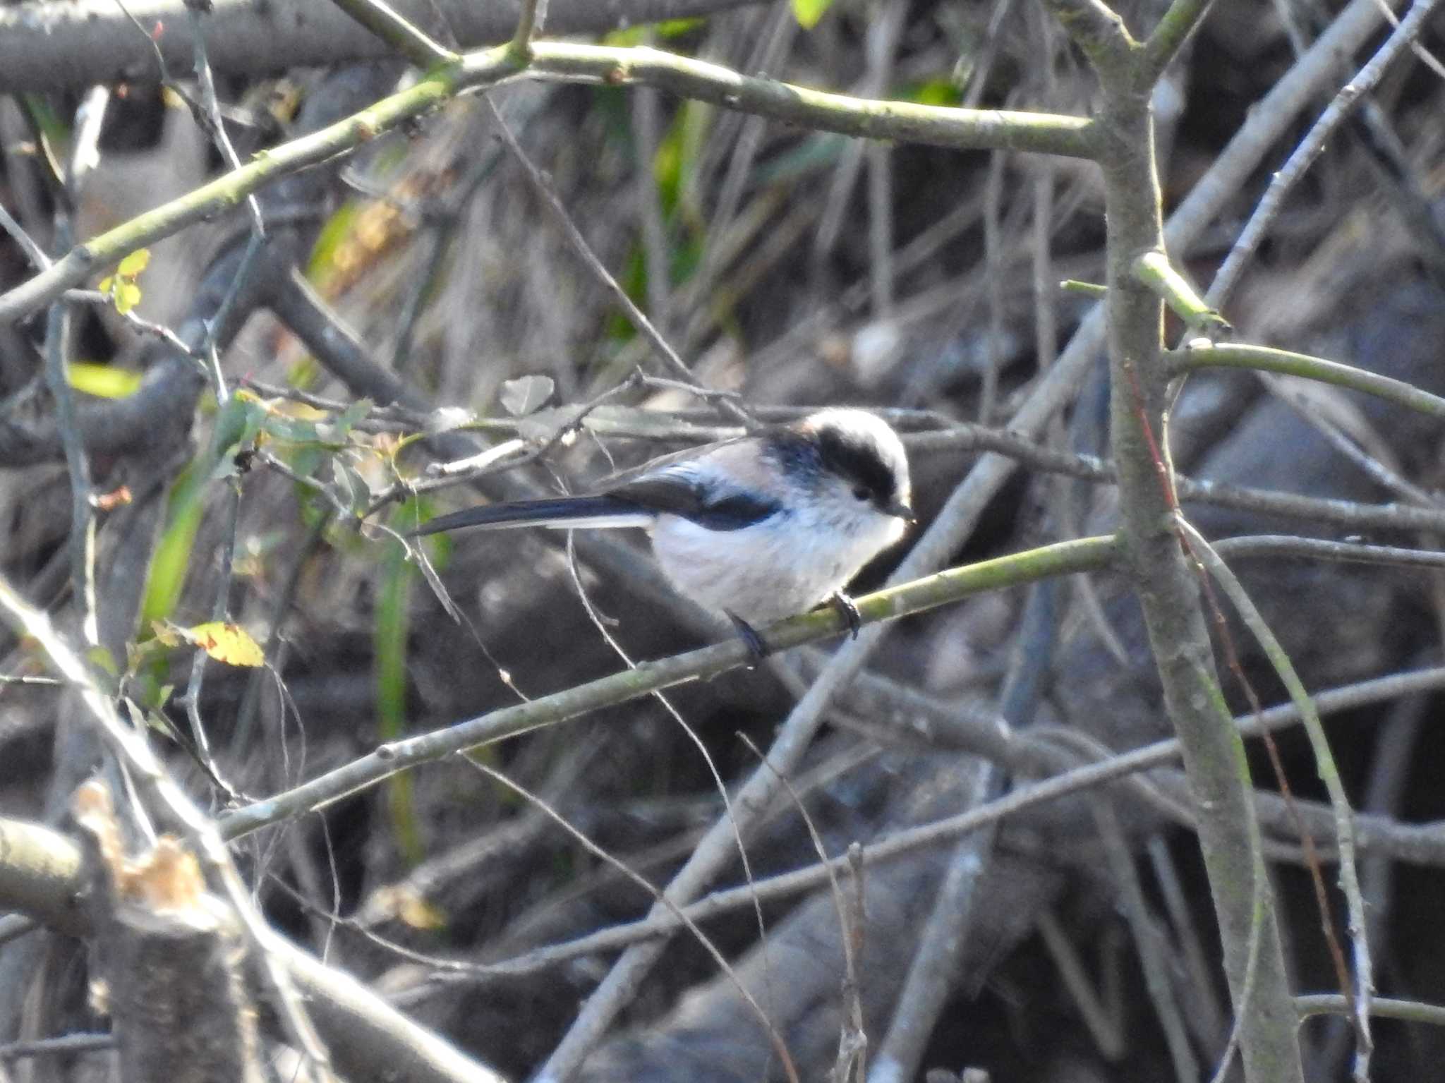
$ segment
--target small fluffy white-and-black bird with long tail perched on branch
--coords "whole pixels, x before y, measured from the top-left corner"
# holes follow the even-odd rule
[[[858,634],[842,592],[913,521],[907,455],[864,410],[828,409],[789,425],[666,455],[587,497],[483,504],[413,534],[458,527],[642,527],[686,598],[721,609],[759,657],[754,625],[831,601]]]

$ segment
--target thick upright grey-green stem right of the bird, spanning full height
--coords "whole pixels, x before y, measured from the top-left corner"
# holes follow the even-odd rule
[[[1139,85],[1127,35],[1091,0],[1051,0],[1094,62],[1103,87],[1100,155],[1108,227],[1110,438],[1120,546],[1139,595],[1169,719],[1199,809],[1198,832],[1240,1021],[1246,1079],[1302,1080],[1273,892],[1264,881],[1244,747],[1228,725],[1198,588],[1172,530],[1160,484],[1168,377],[1159,364],[1163,310],[1136,277],[1140,253],[1165,251],[1150,87]],[[1110,13],[1111,14],[1111,13]],[[1123,38],[1126,45],[1120,45]]]

